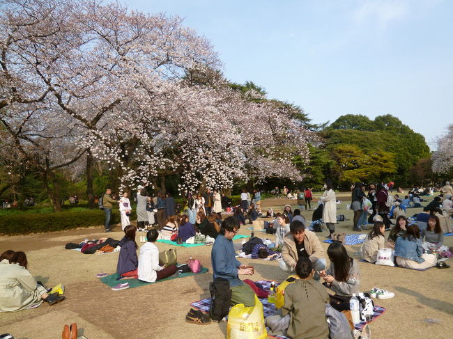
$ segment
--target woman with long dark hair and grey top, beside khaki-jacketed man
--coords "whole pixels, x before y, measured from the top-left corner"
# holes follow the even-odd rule
[[[330,244],[327,249],[330,267],[321,271],[325,285],[335,294],[351,297],[360,292],[360,272],[357,262],[351,258],[342,244]]]

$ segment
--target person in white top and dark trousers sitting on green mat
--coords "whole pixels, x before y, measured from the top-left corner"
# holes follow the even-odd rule
[[[159,250],[154,244],[158,236],[157,230],[148,230],[148,233],[146,233],[148,242],[140,247],[138,274],[141,281],[154,283],[176,273],[176,265],[170,265],[169,267],[159,265]]]

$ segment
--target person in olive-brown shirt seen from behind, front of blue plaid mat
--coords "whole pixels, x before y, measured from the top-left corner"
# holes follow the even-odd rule
[[[323,285],[313,279],[314,269],[309,258],[299,258],[295,273],[300,279],[284,290],[282,315],[291,315],[288,336],[301,339],[328,338],[325,303],[329,302],[329,295]]]

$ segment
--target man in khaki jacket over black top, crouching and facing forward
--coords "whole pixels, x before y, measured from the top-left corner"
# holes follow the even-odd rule
[[[301,256],[309,258],[315,272],[325,269],[324,249],[316,234],[305,230],[304,224],[300,221],[293,221],[289,228],[290,232],[284,237],[280,269],[293,272]],[[315,273],[314,278],[319,280],[319,274]]]

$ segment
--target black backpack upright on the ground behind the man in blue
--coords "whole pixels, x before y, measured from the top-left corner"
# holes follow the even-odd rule
[[[231,303],[230,283],[224,278],[215,278],[209,283],[209,315],[215,322],[220,322],[229,313]]]

